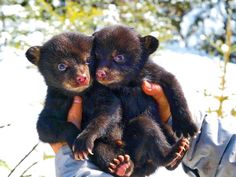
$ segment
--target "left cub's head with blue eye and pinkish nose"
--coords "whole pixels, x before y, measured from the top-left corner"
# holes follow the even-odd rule
[[[38,67],[48,86],[81,93],[93,81],[93,39],[79,33],[62,33],[43,46],[30,47],[26,57]]]

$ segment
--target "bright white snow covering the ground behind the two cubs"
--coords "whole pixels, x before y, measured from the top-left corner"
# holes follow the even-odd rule
[[[176,74],[191,107],[205,110],[208,107],[217,107],[217,102],[205,98],[203,91],[207,89],[213,93],[218,89],[218,60],[176,48],[160,50],[153,59]],[[235,76],[236,65],[229,64],[226,93],[234,93],[234,96],[224,105],[225,109],[236,106]],[[38,142],[35,125],[43,106],[46,87],[36,67],[25,58],[24,52],[13,48],[5,48],[0,53],[0,81],[0,126],[11,124],[0,129],[0,160],[6,161],[13,168]],[[38,163],[28,172],[33,177],[55,176],[54,159],[44,160],[45,155],[53,155],[53,152],[48,145],[40,143],[12,176],[19,177],[34,162]],[[0,176],[5,177],[9,172],[1,166],[0,161]],[[157,174],[162,177],[186,176],[181,167],[175,171],[160,168]]]

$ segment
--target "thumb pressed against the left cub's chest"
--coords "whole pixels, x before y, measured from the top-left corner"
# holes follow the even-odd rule
[[[82,120],[82,98],[79,96],[74,97],[74,102],[69,110],[67,120],[72,122],[77,128],[81,128]]]

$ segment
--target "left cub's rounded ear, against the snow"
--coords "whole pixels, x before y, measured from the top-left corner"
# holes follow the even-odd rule
[[[38,65],[39,58],[40,58],[40,50],[41,50],[41,46],[30,47],[26,51],[25,56],[31,63]]]

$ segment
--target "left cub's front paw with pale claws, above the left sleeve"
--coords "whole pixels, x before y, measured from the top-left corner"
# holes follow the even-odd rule
[[[75,160],[85,160],[88,159],[89,154],[93,155],[94,141],[95,137],[88,133],[79,134],[72,146]]]

